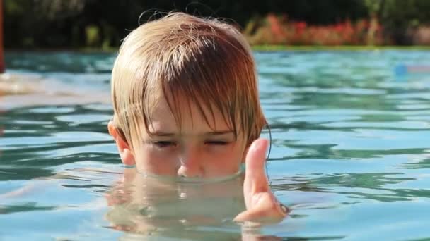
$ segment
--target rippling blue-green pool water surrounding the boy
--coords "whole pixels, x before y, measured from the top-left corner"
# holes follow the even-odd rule
[[[46,92],[0,99],[0,240],[429,240],[430,73],[395,66],[430,52],[255,58],[284,221],[231,222],[237,178],[124,185],[106,128],[115,54],[8,52],[8,73]]]

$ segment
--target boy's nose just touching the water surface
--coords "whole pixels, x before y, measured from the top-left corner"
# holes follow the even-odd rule
[[[178,175],[186,178],[201,178],[203,176],[203,166],[197,152],[187,152],[186,155],[182,156]]]

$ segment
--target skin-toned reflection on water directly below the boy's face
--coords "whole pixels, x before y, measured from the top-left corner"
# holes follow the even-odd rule
[[[110,205],[106,218],[112,228],[156,237],[178,237],[185,232],[196,240],[240,237],[240,227],[232,220],[245,209],[242,178],[175,183],[139,174],[128,180],[132,175],[128,171],[127,181],[106,196]]]

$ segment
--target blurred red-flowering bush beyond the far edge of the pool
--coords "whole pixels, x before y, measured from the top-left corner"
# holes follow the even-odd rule
[[[289,21],[287,16],[269,13],[266,18],[253,19],[245,27],[250,44],[289,45],[380,45],[383,27],[376,18],[351,23],[346,20],[334,25],[308,25]]]

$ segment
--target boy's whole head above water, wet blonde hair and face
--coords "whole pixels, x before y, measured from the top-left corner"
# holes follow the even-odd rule
[[[124,39],[112,70],[112,101],[110,133],[122,161],[156,174],[173,174],[173,166],[187,166],[192,154],[240,164],[266,123],[243,35],[219,20],[186,13],[141,25]],[[155,159],[177,160],[165,171]],[[238,168],[233,162],[229,171],[201,166],[196,175],[231,173]]]

